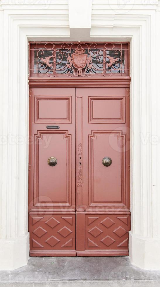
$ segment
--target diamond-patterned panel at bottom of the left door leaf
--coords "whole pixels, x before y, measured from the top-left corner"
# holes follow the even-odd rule
[[[30,250],[75,250],[75,215],[30,215]]]

